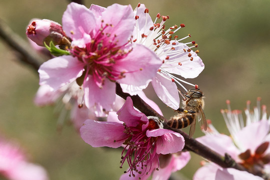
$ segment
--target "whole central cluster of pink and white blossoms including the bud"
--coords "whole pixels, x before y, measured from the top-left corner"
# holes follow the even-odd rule
[[[165,29],[168,16],[159,13],[152,21],[144,4],[86,8],[71,2],[62,16],[62,25],[47,19],[29,23],[26,35],[45,46],[53,57],[38,69],[40,87],[37,105],[61,99],[71,109],[71,120],[81,138],[93,147],[122,147],[120,167],[128,169],[120,179],[168,179],[189,160],[181,151],[184,138],[164,129],[162,120],[146,116],[133,107],[128,96],[120,102],[116,83],[129,95],[138,94],[161,114],[142,90],[151,82],[157,96],[169,107],[178,109],[182,80],[196,77],[204,68],[195,41],[182,42],[174,35],[184,27]],[[161,19],[161,22],[156,22]],[[173,36],[172,36],[173,34]],[[123,104],[123,105],[122,105]],[[120,107],[121,106],[121,107]],[[117,111],[117,112],[116,112]],[[65,116],[61,111],[60,121]],[[99,121],[106,116],[106,121]],[[82,125],[83,124],[83,125]]]

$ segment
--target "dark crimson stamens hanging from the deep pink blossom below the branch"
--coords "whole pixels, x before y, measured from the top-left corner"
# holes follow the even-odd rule
[[[129,176],[132,175],[133,177],[135,176],[133,171],[137,172],[138,174],[144,174],[145,172],[147,174],[151,169],[151,160],[154,157],[157,157],[157,137],[147,137],[146,131],[159,127],[152,119],[149,119],[149,124],[144,130],[141,130],[143,124],[138,124],[136,127],[127,127],[126,124],[123,125],[125,126],[124,132],[129,136],[123,143],[126,144],[126,146],[122,151],[120,168],[122,168],[122,165],[126,160],[129,165],[129,169],[124,171],[124,173],[129,171]],[[123,155],[125,150],[126,153]],[[132,155],[134,155],[134,157],[132,157]],[[143,170],[143,168],[145,168],[145,170]]]

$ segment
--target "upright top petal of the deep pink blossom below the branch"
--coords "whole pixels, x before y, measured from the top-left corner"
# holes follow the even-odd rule
[[[144,113],[134,109],[133,102],[128,96],[122,108],[117,111],[118,119],[126,123],[127,126],[136,126],[138,123],[148,123],[148,118]]]

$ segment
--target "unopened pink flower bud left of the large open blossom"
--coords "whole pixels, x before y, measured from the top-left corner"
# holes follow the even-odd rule
[[[50,41],[52,41],[54,45],[70,44],[62,26],[59,23],[48,19],[33,20],[26,29],[26,35],[40,46],[44,46],[44,42],[49,44]]]

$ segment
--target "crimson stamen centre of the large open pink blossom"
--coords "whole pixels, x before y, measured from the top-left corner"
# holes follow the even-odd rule
[[[74,46],[70,50],[78,60],[85,63],[84,73],[80,78],[85,79],[87,74],[90,74],[100,88],[105,78],[115,81],[125,76],[125,71],[115,69],[115,64],[132,50],[123,50],[128,42],[118,46],[115,36],[111,38],[110,33],[104,32],[109,26],[112,25],[106,24],[103,27],[101,24],[96,34],[91,36],[90,42],[85,43],[85,47]]]

